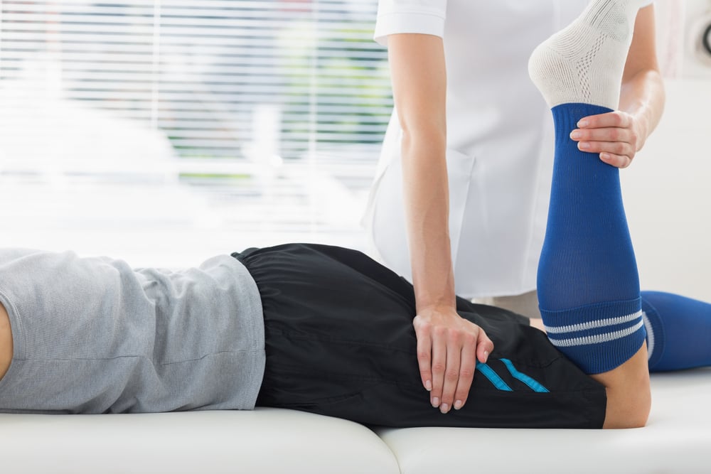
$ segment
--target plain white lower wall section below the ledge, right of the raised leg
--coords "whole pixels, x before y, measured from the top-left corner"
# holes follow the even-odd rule
[[[621,172],[641,286],[711,301],[711,75],[666,91],[658,129]]]

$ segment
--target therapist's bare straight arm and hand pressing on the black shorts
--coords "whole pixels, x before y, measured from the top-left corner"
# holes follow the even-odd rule
[[[407,240],[417,316],[417,360],[432,406],[447,413],[466,402],[476,359],[493,350],[486,333],[456,313],[449,242],[447,73],[442,38],[387,38],[392,92],[402,126]]]

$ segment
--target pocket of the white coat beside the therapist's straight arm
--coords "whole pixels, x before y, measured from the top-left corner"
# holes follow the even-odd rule
[[[449,180],[449,240],[451,259],[456,270],[456,254],[459,250],[461,227],[469,196],[471,173],[476,157],[447,149],[447,179]],[[463,242],[464,243],[464,242]]]

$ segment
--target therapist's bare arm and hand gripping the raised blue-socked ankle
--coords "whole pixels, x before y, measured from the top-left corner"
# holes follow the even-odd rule
[[[579,136],[571,135],[571,138],[578,142],[580,150],[599,153],[605,163],[626,168],[659,123],[664,101],[664,84],[656,55],[654,6],[651,5],[637,14],[622,75],[619,110],[585,117],[573,131]]]

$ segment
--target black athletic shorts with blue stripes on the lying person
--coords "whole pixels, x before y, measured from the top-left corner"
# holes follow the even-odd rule
[[[601,428],[606,395],[528,318],[459,298],[457,310],[486,330],[488,365],[504,392],[477,372],[469,400],[441,414],[417,366],[412,285],[354,250],[285,244],[233,254],[257,282],[267,367],[258,406],[378,426]],[[533,392],[501,362],[540,382]]]

